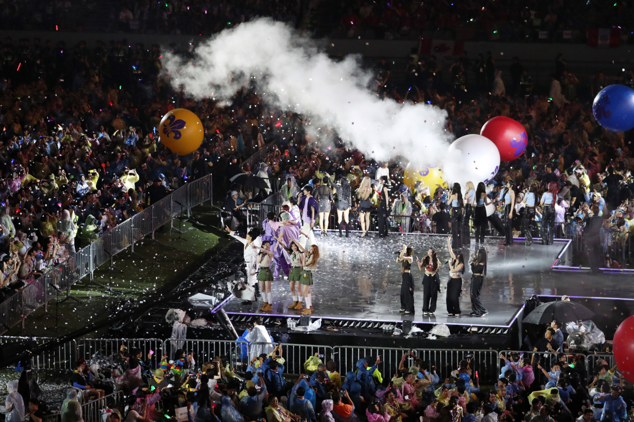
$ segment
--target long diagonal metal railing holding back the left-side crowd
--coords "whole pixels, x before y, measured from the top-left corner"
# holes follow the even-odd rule
[[[41,306],[46,307],[60,292],[70,291],[80,279],[89,275],[92,280],[94,270],[113,255],[127,248],[134,252],[136,241],[150,235],[154,239],[156,229],[168,222],[173,228],[179,214],[186,212],[189,215],[192,207],[209,200],[212,200],[211,175],[184,184],[139,214],[117,224],[61,264],[49,267],[42,276],[0,303],[0,334],[18,323],[23,324],[27,316]]]

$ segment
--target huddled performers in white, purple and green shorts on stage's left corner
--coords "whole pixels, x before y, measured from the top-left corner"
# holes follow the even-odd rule
[[[229,286],[233,295],[245,299],[243,304],[252,304],[259,290],[264,301],[260,310],[273,310],[271,282],[283,275],[288,279],[293,298],[288,309],[302,310],[304,315],[313,312],[311,286],[319,259],[313,227],[319,208],[312,192],[313,188],[306,186],[299,204],[294,196],[283,203],[280,221],[275,221],[275,213],[268,212],[262,222],[263,233],[254,228],[246,238],[241,238],[226,227],[244,245],[246,283],[230,282]],[[309,241],[307,248],[306,241]],[[271,263],[275,264],[273,271]]]

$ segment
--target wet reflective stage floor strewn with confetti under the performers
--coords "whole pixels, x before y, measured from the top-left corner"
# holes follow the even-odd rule
[[[482,304],[489,314],[471,317],[469,264],[463,275],[460,310],[462,316],[450,317],[446,308],[446,285],[449,267],[446,261],[450,255],[445,236],[420,234],[390,234],[385,238],[369,234],[359,238],[351,233],[350,238],[339,238],[330,232],[327,237],[317,236],[320,260],[313,272],[314,285],[313,317],[334,319],[361,319],[364,321],[403,321],[411,319],[415,323],[446,323],[460,325],[509,326],[524,304],[533,294],[569,295],[587,297],[634,297],[634,286],[628,276],[590,276],[582,272],[557,272],[551,267],[557,260],[566,241],[555,241],[554,245],[525,246],[523,240],[516,240],[512,247],[500,245],[503,238],[487,238],[488,272],[482,288]],[[403,243],[414,248],[414,255],[422,259],[429,246],[434,246],[441,260],[439,276],[441,292],[438,293],[434,317],[423,316],[422,275],[414,260],[412,274],[416,291],[414,303],[416,314],[399,312],[401,289],[401,264],[396,257]],[[468,261],[474,253],[475,243],[463,248]],[[611,288],[623,289],[619,293]],[[262,302],[242,305],[241,300],[232,298],[224,310],[228,314],[266,314],[268,316],[299,316],[299,310],[289,310],[292,304],[288,281],[273,281],[273,310],[261,312]]]

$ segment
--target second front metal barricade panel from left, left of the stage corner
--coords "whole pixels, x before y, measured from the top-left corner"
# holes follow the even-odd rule
[[[157,360],[164,354],[163,340],[159,338],[81,338],[77,342],[77,359],[86,359],[89,364],[98,364],[103,368],[114,368],[119,361],[119,353],[127,357],[133,348],[141,349],[143,359],[153,350]],[[121,351],[121,345],[127,350]]]

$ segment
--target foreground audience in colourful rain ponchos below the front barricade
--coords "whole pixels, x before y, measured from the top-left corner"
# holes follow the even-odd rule
[[[201,364],[178,349],[172,359],[159,360],[122,345],[114,369],[77,362],[61,419],[81,422],[82,402],[122,390],[126,404],[109,402],[106,422],[157,421],[180,416],[181,410],[186,419],[179,420],[191,422],[630,421],[632,393],[618,368],[597,357],[589,374],[585,355],[560,352],[557,323],[549,324],[530,357],[500,354],[497,375],[483,366],[495,362],[477,362],[472,355],[443,368],[411,351],[397,357],[394,368],[380,355],[366,356],[354,370],[339,373],[340,362],[330,357],[315,354],[294,362],[297,355],[288,356],[281,345],[261,346],[262,353],[239,369],[225,356]],[[290,375],[287,365],[304,369]],[[16,418],[11,420],[24,420],[25,409],[31,420],[42,418],[34,388],[37,383],[11,386],[7,403]]]

